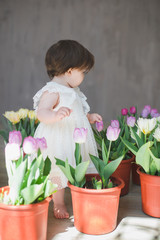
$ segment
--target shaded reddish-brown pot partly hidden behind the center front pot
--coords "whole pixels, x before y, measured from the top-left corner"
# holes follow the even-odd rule
[[[124,196],[129,192],[130,173],[131,173],[131,167],[132,167],[133,161],[134,161],[133,155],[131,155],[130,159],[122,160],[118,168],[116,169],[116,171],[112,174],[113,177],[119,177],[125,183],[125,186],[121,191],[121,196]]]

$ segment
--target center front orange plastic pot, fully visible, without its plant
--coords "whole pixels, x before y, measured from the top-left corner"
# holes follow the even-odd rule
[[[86,174],[86,181],[98,174]],[[119,197],[124,187],[123,180],[112,178],[117,184],[109,189],[79,188],[68,183],[71,189],[74,225],[78,231],[86,234],[105,234],[113,231],[117,225]]]

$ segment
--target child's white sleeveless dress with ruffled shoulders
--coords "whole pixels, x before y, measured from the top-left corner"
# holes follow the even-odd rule
[[[59,93],[59,104],[53,111],[57,111],[60,107],[68,107],[72,109],[69,117],[65,117],[59,122],[52,124],[40,123],[36,129],[34,137],[45,137],[47,141],[47,150],[43,152],[43,157],[50,158],[52,168],[50,179],[53,183],[58,185],[58,189],[67,187],[67,178],[64,176],[60,168],[55,164],[55,158],[66,160],[68,158],[69,164],[75,167],[75,142],[73,141],[73,132],[75,128],[87,128],[87,141],[81,144],[82,160],[90,160],[89,153],[98,156],[97,146],[94,140],[93,132],[87,118],[87,113],[90,110],[86,102],[85,95],[79,88],[69,88],[56,82],[48,82],[41,90],[39,90],[33,97],[34,109],[37,110],[38,104],[42,94],[48,91],[49,93]],[[90,160],[90,165],[87,170],[88,173],[95,173],[96,169]]]

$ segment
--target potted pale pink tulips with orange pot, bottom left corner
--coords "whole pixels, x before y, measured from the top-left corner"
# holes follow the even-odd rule
[[[8,186],[0,188],[0,239],[46,239],[48,206],[56,185],[51,161],[42,157],[46,140],[9,133],[5,146]],[[34,158],[33,158],[34,155]]]

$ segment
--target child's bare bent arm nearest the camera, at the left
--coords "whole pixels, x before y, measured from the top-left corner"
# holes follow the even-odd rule
[[[62,120],[71,114],[72,110],[67,107],[61,107],[58,111],[53,109],[59,103],[58,93],[44,92],[38,106],[37,118],[46,124]]]

